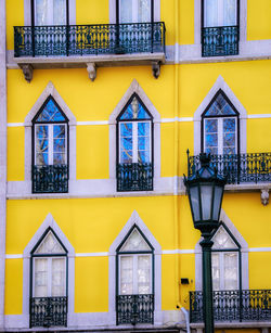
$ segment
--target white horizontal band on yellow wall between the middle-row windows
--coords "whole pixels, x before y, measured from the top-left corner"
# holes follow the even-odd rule
[[[259,115],[248,115],[248,119],[264,119],[271,118],[271,114],[259,114]],[[193,121],[193,117],[176,117],[176,118],[162,118],[160,123],[188,123]],[[96,120],[96,121],[77,121],[77,126],[93,126],[93,125],[108,125],[108,120]],[[8,123],[8,127],[23,127],[24,123]]]

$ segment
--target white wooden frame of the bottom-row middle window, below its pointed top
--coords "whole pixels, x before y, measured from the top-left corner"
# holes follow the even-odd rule
[[[146,254],[146,253],[134,253],[134,254],[121,254],[119,253],[118,255],[118,294],[119,295],[127,295],[127,294],[121,294],[121,257],[132,257],[132,295],[139,295],[139,281],[138,281],[138,262],[139,262],[139,257],[150,257],[150,293],[152,294],[153,292],[153,285],[152,285],[152,280],[153,280],[153,255],[152,254]],[[143,294],[142,294],[143,295]]]

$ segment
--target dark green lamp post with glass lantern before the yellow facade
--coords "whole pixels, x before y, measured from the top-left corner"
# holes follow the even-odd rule
[[[195,229],[202,232],[203,241],[203,311],[205,333],[214,333],[211,234],[218,229],[221,203],[227,178],[210,167],[210,156],[199,155],[202,167],[191,177],[184,176],[190,207]]]

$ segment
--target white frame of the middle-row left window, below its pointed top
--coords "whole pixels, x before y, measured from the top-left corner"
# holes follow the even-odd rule
[[[47,124],[42,121],[35,123],[34,125],[34,130],[35,130],[35,142],[34,142],[34,158],[35,158],[35,165],[37,165],[37,150],[36,150],[36,144],[37,144],[37,132],[36,128],[39,126],[47,126],[48,127],[48,164],[47,165],[54,165],[53,162],[53,155],[54,155],[54,137],[53,137],[53,130],[54,126],[65,126],[65,163],[67,164],[67,124],[66,123],[57,123],[57,124]]]

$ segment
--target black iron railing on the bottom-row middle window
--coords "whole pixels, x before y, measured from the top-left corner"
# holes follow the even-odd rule
[[[153,323],[154,295],[118,295],[116,302],[117,325]]]

